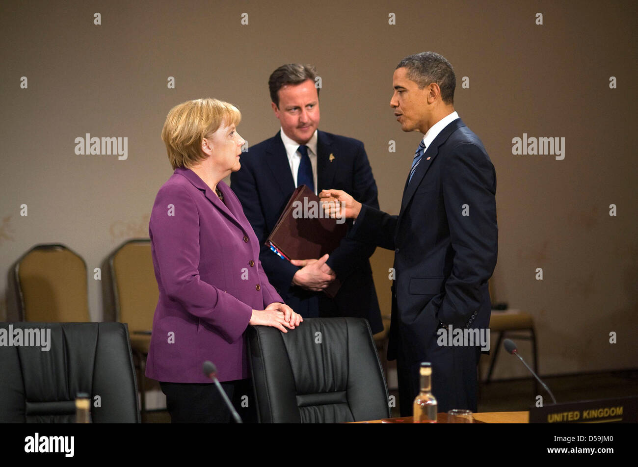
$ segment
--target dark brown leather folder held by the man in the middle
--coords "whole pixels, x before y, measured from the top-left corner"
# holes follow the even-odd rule
[[[302,185],[293,191],[265,244],[289,260],[318,259],[332,253],[345,237],[348,225],[338,220],[326,218],[319,197]],[[335,280],[324,292],[334,297],[339,286]]]

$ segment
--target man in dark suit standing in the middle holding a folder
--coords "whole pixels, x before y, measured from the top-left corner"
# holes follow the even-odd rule
[[[329,255],[294,258],[291,263],[263,244],[295,187],[302,184],[315,193],[337,187],[356,193],[366,205],[379,206],[362,142],[317,130],[316,76],[313,66],[301,64],[286,64],[272,73],[272,109],[281,129],[242,155],[241,169],[231,175],[231,188],[260,241],[263,269],[286,304],[304,318],[366,318],[376,333],[383,323],[368,260],[374,245],[345,238]],[[335,279],[341,287],[330,299],[322,291]]]

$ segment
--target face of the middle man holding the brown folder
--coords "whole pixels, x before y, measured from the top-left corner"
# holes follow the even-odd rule
[[[319,95],[313,80],[288,84],[277,92],[279,106],[272,102],[275,116],[288,138],[306,144],[319,126]]]

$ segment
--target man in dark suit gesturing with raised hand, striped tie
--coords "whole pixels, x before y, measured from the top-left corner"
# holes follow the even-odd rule
[[[422,361],[432,364],[438,411],[475,411],[480,344],[464,338],[449,345],[447,332],[461,329],[469,336],[466,330],[485,333],[489,326],[487,280],[498,250],[496,172],[454,110],[456,77],[444,57],[408,56],[392,81],[390,106],[401,130],[424,134],[399,215],[361,205],[343,191],[320,197],[338,200],[341,214],[356,219],[348,235],[395,251],[388,358],[397,360],[401,416],[412,414]]]

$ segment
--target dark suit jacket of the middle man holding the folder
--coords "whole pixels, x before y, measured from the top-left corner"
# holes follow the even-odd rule
[[[318,191],[343,189],[360,202],[379,207],[375,179],[362,142],[318,131],[317,152]],[[334,156],[332,161],[330,154]],[[368,260],[375,251],[374,245],[345,238],[330,253],[327,263],[341,281],[339,292],[334,300],[330,300],[323,292],[293,286],[292,278],[299,267],[279,258],[263,244],[295,190],[279,132],[244,152],[241,165],[241,169],[230,176],[230,186],[260,241],[259,258],[263,269],[286,304],[304,317],[356,316],[366,318],[373,333],[383,330]],[[352,221],[348,223],[352,225]]]

